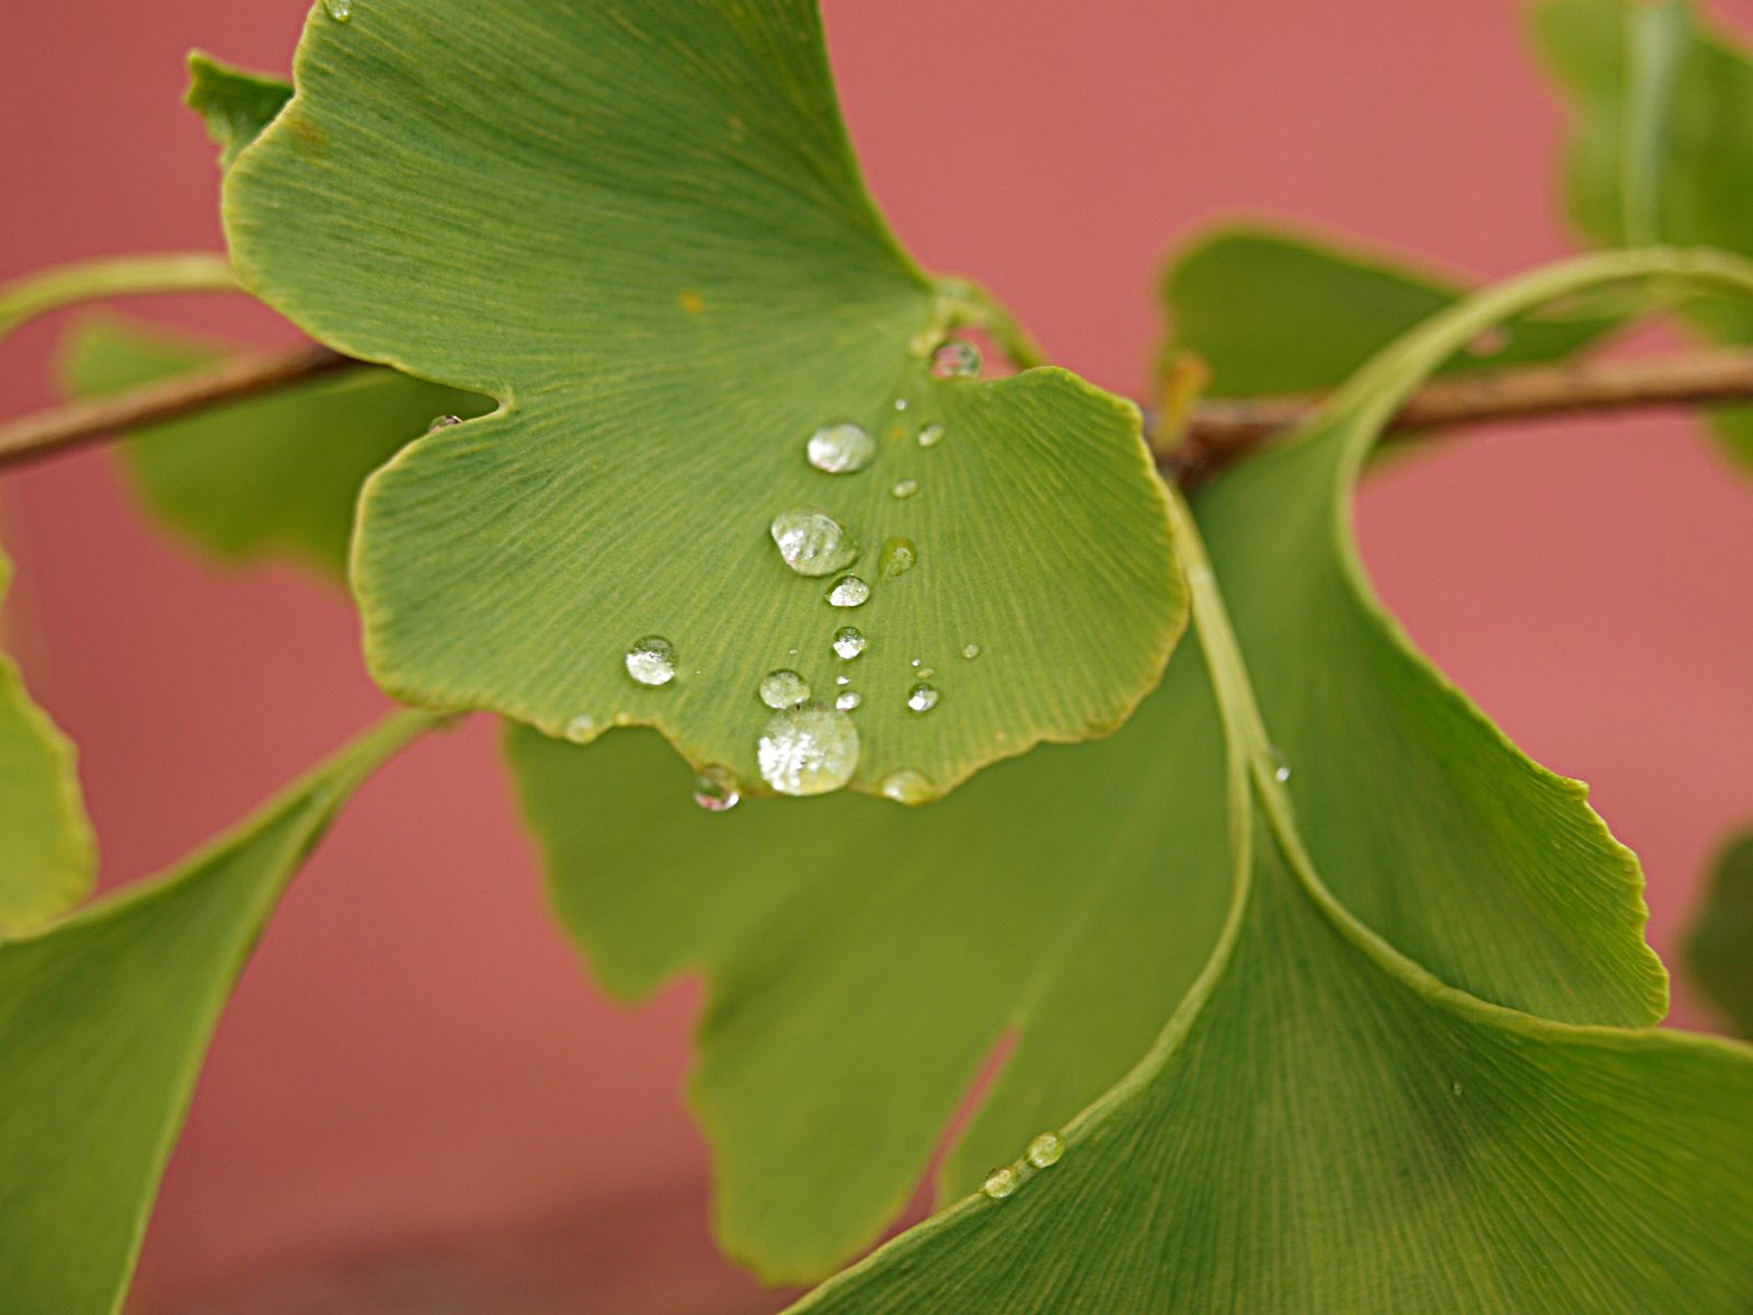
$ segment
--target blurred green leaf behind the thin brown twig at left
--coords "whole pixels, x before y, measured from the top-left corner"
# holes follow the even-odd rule
[[[170,379],[224,347],[123,321],[82,324],[63,377],[81,396]],[[226,561],[291,554],[337,579],[366,475],[438,416],[493,403],[394,370],[361,366],[138,431],[135,486],[179,533]]]

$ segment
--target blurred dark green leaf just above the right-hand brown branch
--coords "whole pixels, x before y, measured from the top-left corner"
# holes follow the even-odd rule
[[[1213,396],[1318,393],[1464,288],[1373,252],[1288,230],[1217,228],[1162,275],[1175,333],[1164,358],[1199,356]],[[1604,309],[1523,316],[1443,363],[1444,372],[1569,356],[1616,328]]]

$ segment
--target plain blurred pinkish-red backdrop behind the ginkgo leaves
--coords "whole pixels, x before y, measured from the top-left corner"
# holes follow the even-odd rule
[[[0,277],[216,247],[182,54],[286,68],[303,9],[12,7]],[[1215,219],[1295,219],[1474,277],[1569,247],[1558,110],[1506,0],[826,9],[896,228],[1108,387],[1138,391],[1157,263]],[[1718,12],[1753,30],[1744,0]],[[165,312],[286,335],[233,302]],[[0,410],[49,402],[51,342],[37,328],[0,352]],[[14,645],[82,745],[107,882],[175,859],[379,710],[342,596],[202,565],[144,524],[107,454],[7,475],[0,515]],[[1593,782],[1644,857],[1671,954],[1713,845],[1753,815],[1753,484],[1679,417],[1558,423],[1399,466],[1362,517],[1413,635],[1532,754]],[[1704,1024],[1679,989],[1679,1017]],[[400,1310],[454,1262],[468,1276],[452,1287],[533,1268],[631,1311],[617,1285],[661,1269],[668,1311],[759,1308],[705,1240],[703,1150],[677,1096],[694,1005],[684,987],[626,1013],[586,984],[545,920],[487,726],[419,747],[296,884],[224,1019],[144,1303],[238,1310],[242,1283],[252,1310],[328,1310],[342,1289]]]

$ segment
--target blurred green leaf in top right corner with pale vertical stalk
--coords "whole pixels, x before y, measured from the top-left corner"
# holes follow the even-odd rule
[[[1753,256],[1746,51],[1674,0],[1543,0],[1534,33],[1572,105],[1565,198],[1578,228],[1616,245],[1627,240],[1627,214],[1641,212],[1664,242]],[[1741,300],[1706,296],[1681,310],[1718,342],[1753,342],[1753,309]],[[1753,407],[1720,409],[1713,419],[1727,449],[1753,466]]]

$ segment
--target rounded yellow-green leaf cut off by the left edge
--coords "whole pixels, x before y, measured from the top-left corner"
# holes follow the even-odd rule
[[[12,563],[0,552],[0,601],[11,579]],[[0,931],[77,905],[91,889],[95,864],[74,745],[0,654]]]

